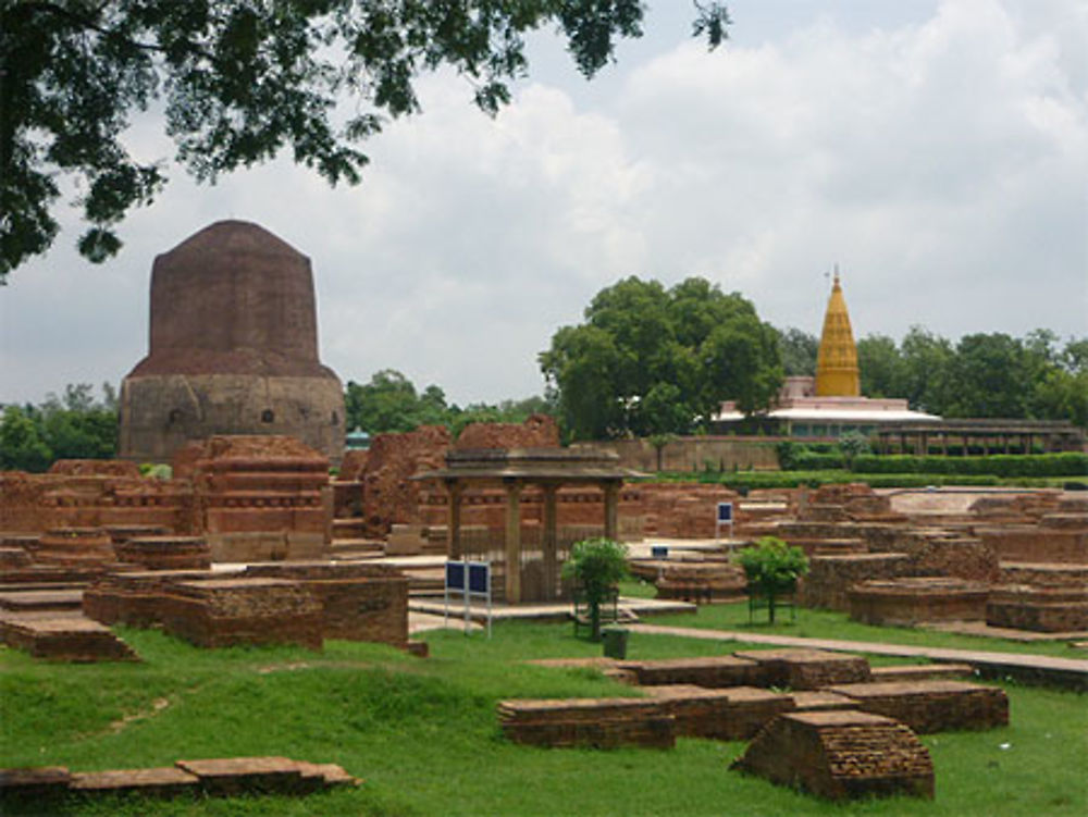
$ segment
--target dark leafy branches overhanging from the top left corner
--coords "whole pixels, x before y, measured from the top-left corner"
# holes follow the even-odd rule
[[[695,8],[713,48],[726,10]],[[199,180],[289,149],[355,184],[359,143],[419,110],[420,72],[454,67],[494,114],[526,73],[527,33],[558,28],[590,77],[642,16],[641,0],[0,0],[0,283],[52,244],[64,176],[89,225],[81,252],[118,251],[113,227],[166,180],[123,140],[160,97]]]

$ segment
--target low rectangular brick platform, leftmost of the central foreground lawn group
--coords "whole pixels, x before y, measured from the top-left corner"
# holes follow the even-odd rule
[[[508,740],[534,746],[671,748],[676,745],[676,719],[663,714],[656,701],[503,701],[498,718]]]

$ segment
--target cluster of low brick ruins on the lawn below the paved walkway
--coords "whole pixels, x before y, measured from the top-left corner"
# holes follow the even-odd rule
[[[597,748],[667,748],[680,736],[751,741],[733,768],[849,800],[932,797],[934,766],[918,732],[1009,723],[1004,692],[953,680],[970,671],[960,666],[875,670],[860,656],[811,649],[590,666],[644,685],[647,697],[504,701],[503,734],[530,745]],[[802,691],[781,689],[794,683]]]

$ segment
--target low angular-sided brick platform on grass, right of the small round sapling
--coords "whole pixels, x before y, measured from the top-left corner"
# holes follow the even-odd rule
[[[850,617],[877,627],[985,621],[989,585],[944,577],[860,582],[846,591]]]

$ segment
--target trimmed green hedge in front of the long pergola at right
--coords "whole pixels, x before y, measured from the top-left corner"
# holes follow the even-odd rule
[[[855,473],[994,474],[997,476],[1085,476],[1088,454],[994,454],[989,457],[916,457],[860,454]]]

